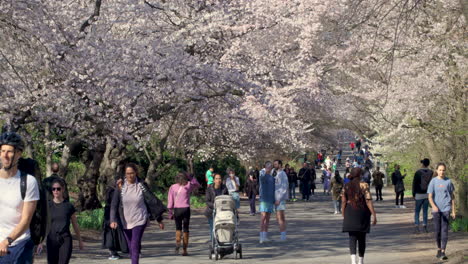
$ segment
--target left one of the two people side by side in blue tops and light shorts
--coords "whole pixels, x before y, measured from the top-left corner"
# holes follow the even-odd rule
[[[273,164],[265,163],[265,168],[260,171],[260,243],[270,241],[268,239],[268,225],[275,205],[275,178],[271,175]]]

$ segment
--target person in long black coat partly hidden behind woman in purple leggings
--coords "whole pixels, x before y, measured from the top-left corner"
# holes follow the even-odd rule
[[[112,204],[112,197],[114,197],[114,192],[117,189],[116,182],[119,179],[117,178],[115,182],[109,185],[106,189],[106,205],[104,206],[104,221],[102,223],[102,248],[107,248],[109,250],[109,260],[118,260],[121,258],[119,251],[122,253],[128,253],[128,245],[123,234],[122,222],[117,218],[118,226],[116,229],[110,228],[110,210]]]

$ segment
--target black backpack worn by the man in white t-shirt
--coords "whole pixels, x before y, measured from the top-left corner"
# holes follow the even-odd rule
[[[20,189],[21,189],[21,199],[24,200],[26,197],[27,189],[27,180],[28,174],[32,176],[38,175],[36,172],[39,170],[38,163],[33,159],[20,159],[18,163],[18,169],[20,170]],[[37,176],[36,176],[37,179]],[[31,233],[31,240],[35,245],[39,245],[44,241],[44,238],[47,236],[50,226],[50,215],[49,207],[47,204],[47,191],[44,190],[41,180],[37,180],[37,185],[39,188],[39,201],[37,201],[36,211],[34,212],[31,223],[29,224],[29,230]]]

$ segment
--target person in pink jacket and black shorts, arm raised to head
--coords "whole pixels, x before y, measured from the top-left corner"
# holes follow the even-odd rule
[[[177,174],[175,181],[176,183],[169,188],[169,194],[167,195],[167,209],[169,209],[169,217],[174,219],[176,224],[175,253],[179,254],[183,229],[182,256],[187,256],[190,224],[190,194],[193,190],[200,187],[200,184],[195,177],[185,172]]]

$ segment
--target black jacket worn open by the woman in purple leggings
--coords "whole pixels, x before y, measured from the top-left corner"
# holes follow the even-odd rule
[[[146,210],[148,211],[149,219],[151,221],[158,221],[161,222],[163,220],[162,215],[164,212],[167,211],[166,206],[159,200],[154,193],[150,191],[148,185],[140,181],[138,182],[138,186],[143,191],[143,199],[145,200]],[[110,211],[110,218],[111,219],[124,219],[123,214],[123,205],[122,205],[122,190],[117,188],[114,191],[114,196],[112,197],[112,204],[111,204],[111,211]],[[112,221],[112,220],[111,220]]]

